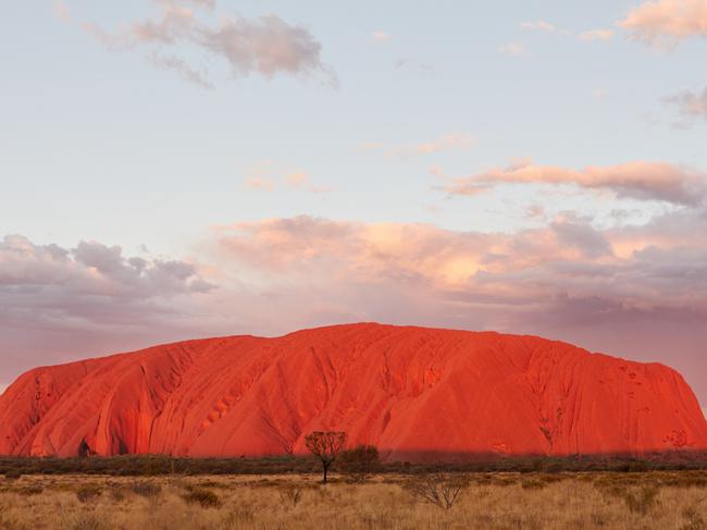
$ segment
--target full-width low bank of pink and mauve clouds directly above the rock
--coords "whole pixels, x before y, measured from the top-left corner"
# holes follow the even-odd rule
[[[704,207],[607,230],[563,214],[516,233],[302,215],[214,227],[198,267],[10,236],[0,381],[60,354],[375,320],[661,355],[707,397],[706,232]]]

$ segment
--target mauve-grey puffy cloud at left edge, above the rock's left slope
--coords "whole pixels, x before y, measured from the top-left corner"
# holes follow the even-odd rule
[[[61,325],[62,316],[91,322],[120,309],[125,311],[121,321],[139,320],[169,312],[161,301],[171,297],[212,288],[190,263],[128,258],[119,246],[80,242],[67,249],[35,245],[21,235],[0,242],[0,313],[8,319],[35,311],[38,320]]]

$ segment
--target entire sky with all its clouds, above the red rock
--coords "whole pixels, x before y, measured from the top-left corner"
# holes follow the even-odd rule
[[[707,0],[36,0],[0,35],[0,390],[380,321],[707,406]]]

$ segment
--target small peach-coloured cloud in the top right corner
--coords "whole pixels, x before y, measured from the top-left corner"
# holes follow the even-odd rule
[[[657,0],[633,9],[619,23],[631,38],[650,46],[673,48],[681,40],[707,36],[705,0]]]

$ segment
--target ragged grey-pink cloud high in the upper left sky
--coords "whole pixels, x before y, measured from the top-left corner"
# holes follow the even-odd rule
[[[191,2],[213,7],[213,2]],[[216,26],[201,22],[182,3],[161,2],[160,15],[109,33],[85,23],[84,29],[110,51],[147,49],[148,58],[159,67],[175,70],[186,81],[211,88],[206,66],[190,66],[181,57],[200,51],[224,60],[234,77],[258,74],[272,78],[281,74],[319,78],[336,85],[333,71],[321,61],[321,44],[311,33],[290,25],[277,15],[258,19],[222,16]],[[163,50],[172,50],[164,54]]]

